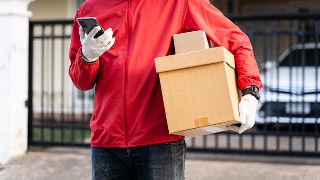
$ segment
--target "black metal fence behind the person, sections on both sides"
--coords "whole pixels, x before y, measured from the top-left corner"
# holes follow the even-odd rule
[[[318,156],[320,14],[228,17],[252,41],[262,75],[257,123],[240,135],[225,131],[186,138],[188,151]],[[68,77],[72,23],[30,22],[30,145],[89,146],[94,94],[78,91]],[[289,63],[282,68],[284,59]]]

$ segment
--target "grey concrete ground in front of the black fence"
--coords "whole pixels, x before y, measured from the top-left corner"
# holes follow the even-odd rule
[[[1,180],[90,179],[90,149],[32,149],[0,165]],[[187,152],[186,179],[320,179],[320,158]]]

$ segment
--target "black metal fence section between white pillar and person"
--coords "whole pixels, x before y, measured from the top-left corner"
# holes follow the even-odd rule
[[[68,77],[73,20],[31,21],[29,35],[29,145],[89,146],[93,99]]]

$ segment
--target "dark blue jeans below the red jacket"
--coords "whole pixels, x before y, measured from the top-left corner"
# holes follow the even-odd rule
[[[185,179],[186,143],[178,140],[131,148],[91,148],[92,180]]]

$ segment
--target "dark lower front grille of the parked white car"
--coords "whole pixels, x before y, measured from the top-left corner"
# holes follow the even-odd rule
[[[302,104],[302,103],[301,103]],[[286,102],[265,102],[262,109],[264,115],[276,116],[276,117],[305,117],[305,118],[317,118],[320,116],[320,102],[312,102],[309,110],[300,110],[299,112],[290,112],[287,110],[288,104]]]

